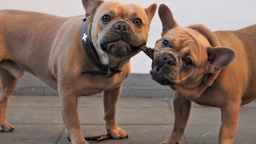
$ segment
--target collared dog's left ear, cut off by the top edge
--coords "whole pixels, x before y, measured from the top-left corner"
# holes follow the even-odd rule
[[[93,20],[94,13],[102,2],[103,0],[82,0],[85,9],[85,17],[87,20]]]

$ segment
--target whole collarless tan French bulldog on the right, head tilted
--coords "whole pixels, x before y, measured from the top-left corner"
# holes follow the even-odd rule
[[[239,109],[256,98],[256,25],[212,32],[201,24],[180,27],[161,4],[162,38],[154,47],[151,75],[175,90],[175,122],[160,144],[177,144],[184,133],[191,101],[221,109],[220,144],[232,144]]]

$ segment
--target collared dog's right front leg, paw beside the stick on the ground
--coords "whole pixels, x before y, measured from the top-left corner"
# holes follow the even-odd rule
[[[121,86],[116,89],[105,90],[103,92],[104,101],[104,120],[106,121],[106,129],[115,139],[128,138],[127,133],[118,127],[116,123],[116,103],[121,94]]]

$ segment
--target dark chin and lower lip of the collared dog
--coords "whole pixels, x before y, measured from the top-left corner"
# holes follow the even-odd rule
[[[132,46],[123,40],[100,44],[100,47],[103,51],[108,52],[116,57],[129,55],[140,50],[140,47]]]

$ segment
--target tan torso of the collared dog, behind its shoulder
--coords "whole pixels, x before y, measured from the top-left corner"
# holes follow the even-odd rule
[[[55,81],[49,70],[50,52],[61,39],[63,29],[67,29],[74,19],[76,17],[1,10],[0,68],[9,69],[15,78],[22,77],[24,71],[27,71],[34,75],[36,73],[41,79]]]

